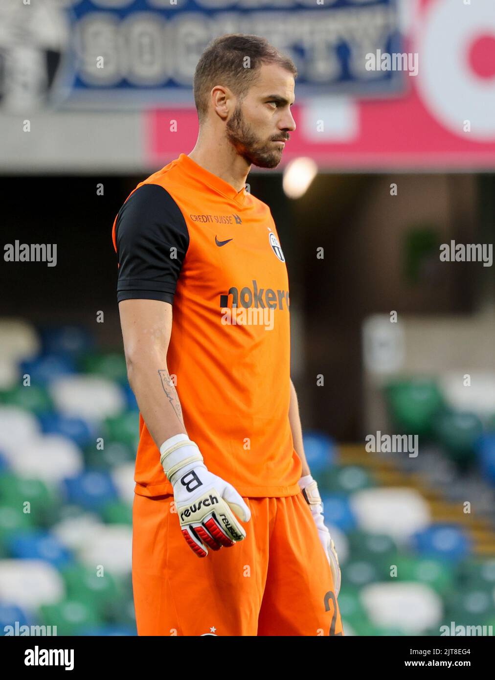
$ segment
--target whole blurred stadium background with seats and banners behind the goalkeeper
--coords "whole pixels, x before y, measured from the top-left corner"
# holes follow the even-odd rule
[[[3,244],[56,243],[57,261],[0,267],[0,630],[135,634],[112,223],[192,150],[197,59],[237,31],[300,71],[284,160],[247,182],[287,260],[345,632],[495,625],[494,268],[440,258],[494,241],[495,9],[327,5],[3,0]],[[366,70],[376,50],[417,54],[417,75]],[[417,436],[417,455],[367,451],[378,432]]]

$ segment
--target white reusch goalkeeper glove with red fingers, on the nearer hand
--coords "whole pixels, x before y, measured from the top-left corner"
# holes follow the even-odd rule
[[[198,557],[245,539],[251,511],[228,482],[209,472],[198,445],[180,433],[160,446],[160,462],[173,486],[173,499],[186,543]]]

